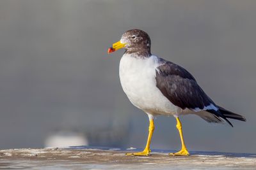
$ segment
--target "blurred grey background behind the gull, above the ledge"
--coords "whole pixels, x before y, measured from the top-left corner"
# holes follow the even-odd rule
[[[0,148],[143,148],[148,117],[120,85],[124,50],[143,29],[152,53],[190,71],[247,122],[182,117],[189,150],[256,153],[256,1],[0,1]],[[152,148],[180,149],[175,118],[157,117]]]

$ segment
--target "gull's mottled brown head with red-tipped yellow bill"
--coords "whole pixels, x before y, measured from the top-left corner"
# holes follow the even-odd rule
[[[147,32],[140,29],[131,29],[122,34],[120,41],[108,48],[108,53],[125,48],[125,53],[149,57],[151,55],[150,45],[151,42]]]

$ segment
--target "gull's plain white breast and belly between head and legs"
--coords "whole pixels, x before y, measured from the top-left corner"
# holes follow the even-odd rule
[[[158,57],[147,59],[123,55],[119,76],[125,94],[134,106],[152,115],[179,115],[182,111],[173,105],[156,87]]]

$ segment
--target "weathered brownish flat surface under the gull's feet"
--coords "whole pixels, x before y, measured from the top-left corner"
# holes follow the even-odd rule
[[[135,148],[42,148],[0,150],[0,169],[256,169],[256,154],[191,152],[170,156],[153,150],[148,157],[126,156]]]

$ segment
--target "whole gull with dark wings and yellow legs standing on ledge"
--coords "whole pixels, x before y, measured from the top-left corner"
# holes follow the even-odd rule
[[[177,120],[181,150],[170,155],[189,155],[184,143],[179,116],[195,114],[207,122],[227,122],[228,118],[246,121],[236,113],[215,104],[198,85],[195,78],[183,67],[164,60],[150,52],[147,32],[132,29],[122,34],[120,41],[108,53],[125,48],[120,60],[119,76],[122,88],[134,106],[147,113],[149,118],[147,145],[143,152],[127,155],[149,155],[154,131],[154,117],[173,115]]]

